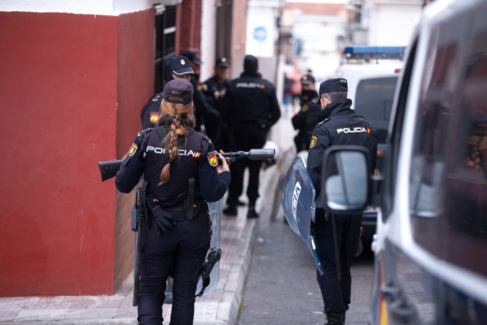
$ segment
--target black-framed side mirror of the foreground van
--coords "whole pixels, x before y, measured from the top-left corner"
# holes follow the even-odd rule
[[[321,163],[321,206],[331,212],[363,210],[370,202],[369,150],[332,146]]]

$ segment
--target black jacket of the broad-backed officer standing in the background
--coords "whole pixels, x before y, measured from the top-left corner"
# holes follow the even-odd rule
[[[268,130],[281,117],[272,84],[258,73],[243,73],[230,81],[225,95],[228,118],[233,123],[259,124]]]

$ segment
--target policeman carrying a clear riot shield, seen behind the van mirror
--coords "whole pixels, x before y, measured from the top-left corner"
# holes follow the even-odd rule
[[[307,161],[308,171],[317,193],[320,191],[323,153],[333,145],[360,145],[368,148],[373,155],[371,172],[375,170],[377,132],[368,120],[350,109],[352,100],[347,99],[347,91],[347,80],[343,78],[330,79],[319,86],[323,110],[319,115],[320,122],[313,130]],[[350,266],[360,239],[362,213],[336,214],[335,220],[341,281],[337,278],[332,218],[328,218],[327,221],[325,212],[321,209],[316,210],[315,240],[324,274],[319,275],[317,271],[317,279],[323,296],[327,324],[342,325],[345,322],[345,312],[350,305]]]

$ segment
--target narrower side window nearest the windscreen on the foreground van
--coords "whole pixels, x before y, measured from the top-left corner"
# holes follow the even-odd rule
[[[459,72],[460,33],[455,23],[432,33],[420,86],[410,176],[412,235],[416,243],[439,254],[444,212],[447,142]],[[461,30],[461,28],[460,28]]]

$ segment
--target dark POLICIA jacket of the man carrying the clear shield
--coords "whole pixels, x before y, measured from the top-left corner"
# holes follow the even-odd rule
[[[321,161],[324,151],[334,145],[358,145],[372,154],[372,171],[377,160],[377,132],[364,117],[357,115],[351,99],[339,99],[327,105],[319,115],[308,152],[308,172],[317,192],[320,189]],[[371,171],[371,172],[372,172]]]

